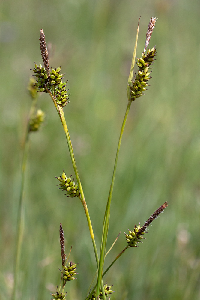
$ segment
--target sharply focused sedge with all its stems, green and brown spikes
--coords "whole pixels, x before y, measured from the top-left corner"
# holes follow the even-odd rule
[[[86,199],[84,196],[81,179],[76,165],[73,147],[70,140],[70,134],[67,128],[67,123],[64,115],[64,107],[67,105],[68,103],[67,101],[69,99],[68,90],[66,88],[67,81],[66,82],[63,81],[63,74],[61,74],[61,67],[55,69],[49,67],[49,57],[48,57],[48,50],[45,41],[45,35],[42,29],[40,31],[40,50],[43,59],[43,64],[41,63],[39,65],[35,64],[34,69],[32,69],[34,72],[34,76],[37,78],[37,82],[35,83],[34,86],[37,88],[38,92],[48,93],[55,105],[55,109],[57,110],[57,113],[59,115],[59,118],[61,120],[66,135],[70,158],[76,176],[76,182],[74,179],[72,179],[71,176],[68,177],[69,173],[71,173],[71,170],[67,170],[66,173],[63,170],[63,173],[56,178],[58,179],[59,187],[66,193],[67,197],[78,198],[82,203],[82,206],[85,211],[87,223],[88,223],[88,228],[89,228],[89,232],[90,232],[90,236],[94,248],[94,255],[97,264],[97,272],[96,274],[94,274],[94,279],[95,277],[97,277],[97,279],[96,282],[94,282],[93,287],[92,287],[93,282],[90,284],[88,293],[85,296],[85,300],[98,300],[98,299],[106,300],[108,299],[108,297],[110,297],[110,295],[113,293],[112,285],[109,286],[107,283],[103,282],[105,274],[112,267],[115,261],[123,253],[125,253],[125,251],[128,248],[138,247],[138,243],[142,242],[142,240],[144,239],[144,234],[146,232],[147,227],[168,206],[168,203],[165,202],[151,215],[151,217],[145,222],[143,226],[140,226],[139,224],[138,226],[135,225],[133,230],[128,229],[128,233],[125,233],[127,245],[122,249],[122,251],[115,257],[115,259],[113,259],[113,261],[104,270],[104,262],[105,262],[106,254],[111,250],[109,249],[108,252],[106,253],[106,242],[107,242],[109,220],[110,220],[110,207],[111,207],[112,192],[113,192],[113,186],[115,181],[121,140],[122,140],[122,136],[123,136],[123,132],[124,132],[124,128],[127,121],[128,113],[130,111],[131,104],[137,98],[144,95],[144,92],[147,90],[147,87],[149,85],[148,80],[151,79],[150,69],[155,60],[156,48],[154,46],[153,48],[150,49],[148,48],[148,44],[150,42],[150,38],[155,26],[155,22],[156,22],[156,18],[151,17],[150,22],[148,24],[144,50],[142,51],[141,57],[137,58],[137,62],[136,62],[137,70],[134,73],[133,69],[135,65],[136,49],[137,49],[137,41],[138,41],[138,33],[139,33],[139,22],[138,22],[135,47],[133,51],[133,58],[132,58],[130,74],[127,82],[128,103],[127,103],[127,108],[122,122],[120,137],[118,141],[113,175],[112,175],[108,200],[106,204],[105,214],[104,214],[102,238],[101,238],[101,245],[99,251],[97,250],[97,246],[95,243],[92,223],[91,223],[88,207],[86,204]],[[115,242],[113,243],[112,247],[114,246]],[[60,224],[60,244],[61,244],[61,261],[62,261],[61,280],[60,280],[60,284],[57,286],[55,293],[52,294],[53,299],[66,299],[67,292],[65,291],[65,288],[67,282],[74,280],[75,279],[74,276],[78,274],[76,272],[77,263],[73,263],[72,261],[70,262],[69,260],[70,253],[68,254],[68,257],[66,259],[66,253],[64,250],[64,232],[61,224]]]

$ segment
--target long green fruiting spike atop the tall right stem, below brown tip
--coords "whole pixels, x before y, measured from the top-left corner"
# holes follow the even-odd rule
[[[135,73],[134,81],[130,86],[131,101],[134,101],[136,98],[145,95],[143,92],[146,91],[148,86],[147,81],[151,79],[149,77],[151,71],[149,72],[149,67],[154,62],[154,57],[156,56],[155,46],[150,50],[147,50],[147,53],[142,52],[142,57],[137,58],[138,62],[136,63],[139,67],[138,73]]]

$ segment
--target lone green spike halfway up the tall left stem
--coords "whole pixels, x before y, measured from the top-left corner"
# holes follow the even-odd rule
[[[67,178],[66,173],[63,170],[63,173],[60,177],[55,177],[59,180],[59,184],[62,188],[62,190],[66,190],[68,197],[79,197],[80,191],[79,191],[79,185],[74,183],[74,181],[71,179],[71,176]]]

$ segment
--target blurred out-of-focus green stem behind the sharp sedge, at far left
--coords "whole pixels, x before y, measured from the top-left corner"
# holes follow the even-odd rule
[[[37,98],[32,101],[31,110],[29,114],[29,119],[35,111],[37,103]],[[22,155],[22,169],[21,169],[21,184],[20,184],[20,195],[19,195],[19,207],[17,214],[17,232],[16,232],[16,257],[15,257],[15,267],[14,267],[14,287],[12,299],[16,299],[18,283],[19,283],[19,266],[20,258],[22,252],[22,241],[23,241],[23,231],[24,231],[24,181],[25,181],[25,172],[28,159],[28,150],[29,150],[29,122],[27,125],[25,140],[23,146],[23,155]]]

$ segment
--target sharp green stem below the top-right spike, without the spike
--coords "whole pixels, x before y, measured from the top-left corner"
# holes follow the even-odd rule
[[[113,192],[113,186],[114,186],[114,181],[115,181],[119,149],[120,149],[120,145],[121,145],[122,135],[124,132],[124,127],[125,127],[125,124],[127,121],[129,110],[130,110],[130,105],[131,105],[131,102],[128,101],[126,113],[125,113],[124,120],[123,120],[123,123],[121,126],[121,132],[120,132],[120,137],[119,137],[119,142],[118,142],[118,147],[117,147],[117,153],[116,153],[116,157],[115,157],[115,165],[114,165],[114,170],[113,170],[113,175],[112,175],[112,182],[111,182],[111,186],[110,186],[110,191],[109,191],[109,196],[108,196],[108,201],[107,201],[106,211],[105,211],[105,216],[104,216],[103,234],[102,234],[101,250],[100,250],[100,262],[99,262],[99,269],[98,269],[98,275],[97,275],[97,295],[99,295],[99,292],[100,292],[100,282],[101,282],[101,278],[102,278],[102,274],[103,274],[103,265],[104,265],[104,260],[105,260],[106,242],[107,242],[109,219],[110,219],[110,205],[111,205],[112,192]]]

